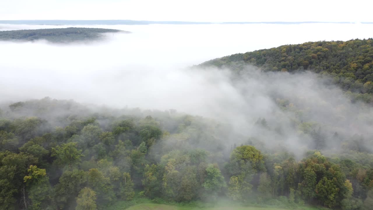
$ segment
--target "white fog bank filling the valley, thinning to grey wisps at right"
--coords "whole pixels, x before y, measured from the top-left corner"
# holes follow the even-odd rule
[[[0,25],[1,30],[56,28],[51,25]],[[87,26],[74,26],[87,27]],[[263,73],[248,66],[240,80],[215,68],[188,68],[233,53],[318,40],[369,38],[369,24],[248,25],[94,25],[131,34],[107,34],[104,41],[51,44],[0,42],[0,101],[49,96],[109,107],[177,109],[229,123],[236,133],[287,142],[294,151],[307,149],[307,136],[287,130],[291,113],[273,96],[289,99],[308,120],[344,133],[371,136],[371,109],[351,104],[337,87],[324,86],[306,72]],[[333,28],[333,30],[330,30]],[[284,118],[283,116],[288,116]],[[258,118],[281,124],[285,136],[253,126]],[[288,119],[288,120],[285,120]],[[263,134],[264,133],[264,134]],[[303,142],[303,143],[302,143]],[[281,143],[279,143],[281,144]],[[335,146],[335,145],[334,145]],[[332,149],[333,146],[330,146]]]

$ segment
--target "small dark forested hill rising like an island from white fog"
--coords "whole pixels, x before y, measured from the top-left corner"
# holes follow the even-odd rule
[[[106,28],[49,28],[36,30],[0,31],[0,41],[33,41],[51,42],[87,41],[103,38],[103,33],[129,33],[128,31]]]

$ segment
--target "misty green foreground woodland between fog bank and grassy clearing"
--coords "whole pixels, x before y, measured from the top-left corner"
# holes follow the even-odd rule
[[[278,106],[296,112],[289,102]],[[343,210],[373,204],[372,140],[334,130],[327,136],[305,118],[292,126],[316,143],[295,157],[250,136],[236,144],[229,125],[173,109],[88,108],[44,98],[3,104],[0,113],[4,210],[106,209],[135,196]],[[264,118],[253,126],[282,132]],[[325,156],[330,138],[342,147]]]

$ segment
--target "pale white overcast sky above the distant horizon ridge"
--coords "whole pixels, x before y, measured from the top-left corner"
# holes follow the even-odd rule
[[[373,1],[329,0],[0,0],[0,20],[373,22]]]

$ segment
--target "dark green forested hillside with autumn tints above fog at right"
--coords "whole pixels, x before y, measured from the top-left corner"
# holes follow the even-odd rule
[[[316,41],[289,44],[271,49],[238,53],[213,59],[202,66],[230,67],[236,71],[246,64],[264,71],[298,72],[310,70],[330,75],[352,101],[372,102],[373,39]]]

